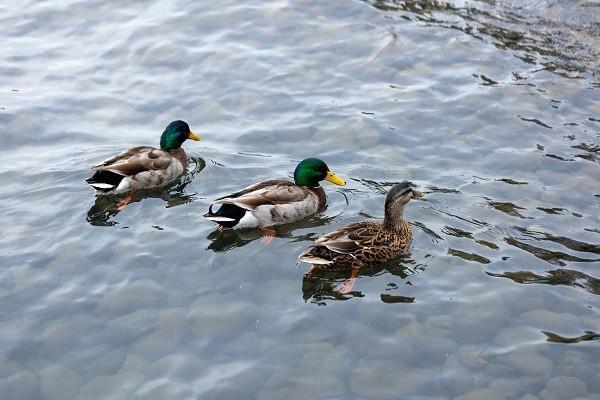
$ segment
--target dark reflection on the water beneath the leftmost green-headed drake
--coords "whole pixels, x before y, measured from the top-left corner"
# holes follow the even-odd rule
[[[202,158],[190,158],[191,169],[181,178],[171,183],[170,185],[156,188],[138,190],[133,195],[130,203],[136,203],[146,198],[159,198],[165,201],[166,207],[175,207],[181,204],[191,203],[193,195],[185,193],[185,188],[194,179],[196,174],[206,167],[206,163]],[[112,217],[117,215],[121,210],[118,209],[117,203],[120,200],[119,196],[98,196],[94,205],[88,210],[86,221],[94,226],[113,226],[117,222],[112,220]]]

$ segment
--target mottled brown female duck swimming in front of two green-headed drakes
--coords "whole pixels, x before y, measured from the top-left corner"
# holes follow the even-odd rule
[[[358,271],[406,253],[412,242],[412,229],[404,219],[404,207],[424,194],[410,182],[391,187],[385,197],[383,221],[356,222],[329,232],[314,241],[298,259],[312,264],[308,274],[319,270],[351,270],[342,290],[351,290]]]

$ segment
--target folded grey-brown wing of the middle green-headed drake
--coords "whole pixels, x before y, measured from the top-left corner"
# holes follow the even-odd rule
[[[262,205],[289,204],[305,200],[311,192],[295,183],[272,179],[255,183],[238,192],[215,199],[215,203],[234,204],[246,210]]]

